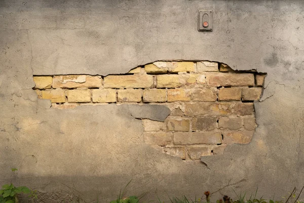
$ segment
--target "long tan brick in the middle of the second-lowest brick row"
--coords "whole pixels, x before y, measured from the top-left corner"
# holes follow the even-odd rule
[[[216,132],[174,132],[173,142],[175,145],[192,144],[221,144],[220,131]]]

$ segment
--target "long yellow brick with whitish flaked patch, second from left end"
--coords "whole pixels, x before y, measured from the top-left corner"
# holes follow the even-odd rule
[[[101,87],[101,83],[100,76],[66,75],[53,77],[53,88],[97,88]]]

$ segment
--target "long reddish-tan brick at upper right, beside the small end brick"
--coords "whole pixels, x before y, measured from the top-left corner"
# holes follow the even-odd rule
[[[254,75],[250,73],[209,73],[206,75],[209,87],[219,86],[254,86]]]

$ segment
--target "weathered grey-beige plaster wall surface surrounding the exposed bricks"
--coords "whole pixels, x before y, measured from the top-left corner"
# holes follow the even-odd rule
[[[200,8],[213,9],[212,32],[197,30]],[[223,187],[215,196],[257,187],[287,196],[304,183],[303,36],[300,0],[2,0],[0,184],[13,178],[45,202],[67,198],[69,187],[107,202],[131,179],[127,195],[144,200]],[[32,90],[33,75],[124,74],[174,59],[268,74],[250,144],[189,164],[145,145],[127,106],[52,109]]]

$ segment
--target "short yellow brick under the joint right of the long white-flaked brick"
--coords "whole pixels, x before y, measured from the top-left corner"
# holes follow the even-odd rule
[[[92,89],[92,101],[94,103],[116,102],[115,89]]]

